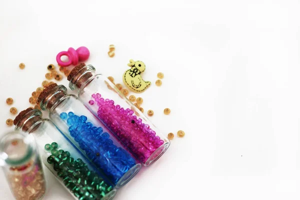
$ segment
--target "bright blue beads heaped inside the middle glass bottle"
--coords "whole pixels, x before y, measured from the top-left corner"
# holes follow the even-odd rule
[[[91,122],[87,122],[86,116],[62,112],[60,118],[66,120],[69,126],[68,131],[78,142],[79,147],[114,184],[136,164],[128,152],[113,143],[110,135],[103,132],[102,127],[96,127]]]

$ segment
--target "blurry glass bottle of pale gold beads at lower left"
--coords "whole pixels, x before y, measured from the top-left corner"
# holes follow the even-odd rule
[[[31,135],[4,134],[0,138],[0,165],[15,199],[35,200],[44,196],[43,168]]]

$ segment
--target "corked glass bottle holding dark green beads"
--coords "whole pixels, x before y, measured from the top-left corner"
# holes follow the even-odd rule
[[[27,108],[14,120],[15,130],[37,142],[44,165],[75,199],[112,199],[116,193],[103,174],[38,109]]]

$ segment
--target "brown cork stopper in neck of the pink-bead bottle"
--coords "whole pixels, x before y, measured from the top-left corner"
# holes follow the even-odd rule
[[[91,72],[85,72],[86,70],[81,70],[84,66],[85,63],[83,62],[76,65],[67,76],[67,80],[76,85],[77,88],[80,88],[84,82],[86,82],[86,80],[92,76]]]

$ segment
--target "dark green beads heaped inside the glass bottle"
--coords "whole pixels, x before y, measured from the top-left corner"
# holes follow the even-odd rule
[[[64,185],[78,199],[101,199],[112,190],[112,186],[88,169],[82,159],[75,160],[68,151],[58,150],[56,142],[45,144],[44,148],[51,153],[47,157],[47,162],[53,166],[57,175],[63,179]]]

